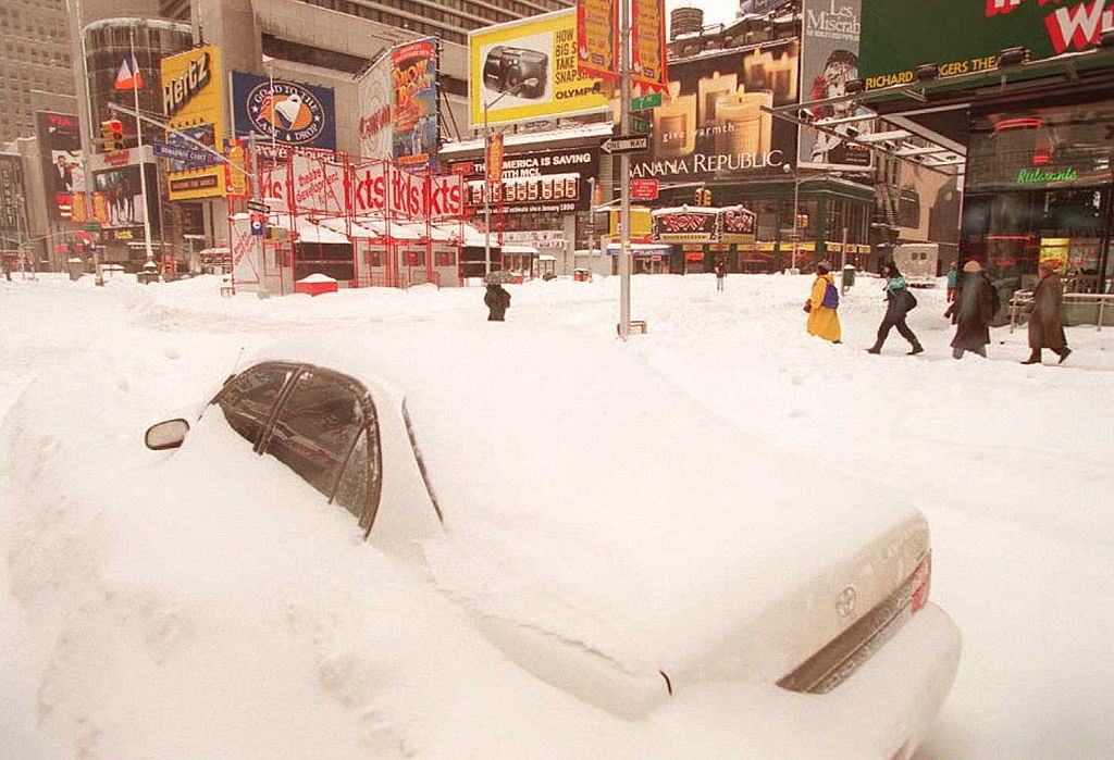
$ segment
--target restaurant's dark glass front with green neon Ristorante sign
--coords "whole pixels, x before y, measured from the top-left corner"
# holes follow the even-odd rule
[[[984,261],[1003,302],[1054,259],[1068,290],[1110,293],[1114,103],[974,119],[960,255]]]

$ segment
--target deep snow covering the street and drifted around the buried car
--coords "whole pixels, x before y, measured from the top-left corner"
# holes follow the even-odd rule
[[[965,642],[956,687],[918,758],[1106,757],[1114,333],[1069,328],[1076,351],[1064,365],[1049,355],[1048,366],[1023,367],[1024,329],[998,329],[990,361],[955,362],[942,289],[921,290],[910,325],[926,353],[905,356],[893,333],[883,355],[870,356],[862,348],[881,317],[877,280],[860,278],[844,297],[838,346],[804,334],[809,283],[730,276],[721,294],[711,276],[636,277],[633,316],[649,333],[623,349],[712,413],[789,450],[818,499],[830,467],[928,516],[932,598]],[[615,345],[616,278],[508,289],[508,319],[530,326],[540,346],[554,330]],[[452,605],[414,595],[395,564],[353,543],[343,515],[268,492],[286,473],[245,482],[227,457],[199,490],[245,509],[214,514],[205,533],[189,530],[196,515],[184,504],[133,503],[131,484],[120,482],[149,457],[136,448],[143,428],[203,398],[242,352],[371,323],[417,320],[467,336],[488,327],[485,316],[478,288],[260,300],[222,299],[213,278],[106,288],[88,278],[0,280],[0,456],[21,488],[0,493],[0,758],[453,757],[461,746],[505,757],[737,753],[730,742],[742,736],[740,707],[714,693],[628,723],[520,672]],[[514,384],[516,361],[508,356],[491,382]],[[539,404],[558,395],[545,383],[536,393]],[[13,441],[35,448],[17,457]],[[667,454],[645,452],[646,466],[667,467]],[[538,453],[539,468],[550,455]],[[37,457],[71,468],[9,472]],[[36,524],[13,523],[11,500],[27,493],[49,509]],[[117,509],[79,511],[72,500],[82,495]],[[98,539],[119,530],[114,515],[124,507],[149,516],[126,554],[82,555],[111,545]],[[37,542],[41,552],[26,550]],[[276,544],[289,551],[276,556]],[[97,573],[76,576],[59,555]],[[135,578],[136,567],[152,578]],[[245,600],[260,573],[273,588]],[[209,593],[214,584],[222,593]],[[218,625],[229,616],[241,621],[235,635]],[[399,622],[412,620],[426,624]],[[32,629],[49,635],[31,638]],[[382,652],[391,657],[365,657]],[[207,662],[242,671],[214,680]],[[273,687],[265,702],[251,688],[261,680]],[[488,680],[512,688],[492,694]],[[135,737],[137,724],[158,730]],[[198,724],[211,730],[198,736]],[[763,727],[747,730],[761,740]]]

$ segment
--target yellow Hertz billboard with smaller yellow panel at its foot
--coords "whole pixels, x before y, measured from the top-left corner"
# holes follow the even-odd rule
[[[183,139],[184,132],[207,148],[219,150],[224,144],[224,75],[221,49],[206,45],[162,62],[163,113],[174,131],[166,141],[182,148],[195,148]],[[195,167],[170,160],[167,167],[170,200],[219,198],[224,196],[224,167],[219,164]]]

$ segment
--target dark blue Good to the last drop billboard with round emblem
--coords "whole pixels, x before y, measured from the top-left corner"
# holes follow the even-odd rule
[[[255,132],[295,148],[336,149],[336,98],[332,88],[242,71],[232,72],[236,137]]]

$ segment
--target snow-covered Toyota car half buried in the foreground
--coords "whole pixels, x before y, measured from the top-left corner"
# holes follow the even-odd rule
[[[622,347],[512,334],[282,344],[147,445],[197,470],[237,434],[253,476],[284,464],[509,659],[616,715],[731,684],[736,719],[789,742],[740,756],[911,757],[959,657],[924,516],[821,463],[802,478]]]

